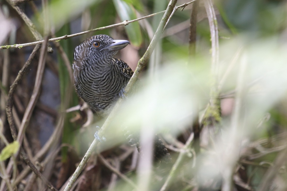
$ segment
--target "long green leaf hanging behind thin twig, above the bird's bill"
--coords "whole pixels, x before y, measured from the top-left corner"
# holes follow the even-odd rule
[[[123,0],[113,0],[117,13],[122,21],[136,19],[135,9],[130,3],[127,3]],[[136,47],[139,47],[143,41],[141,35],[141,29],[138,22],[133,22],[125,26],[127,36]]]

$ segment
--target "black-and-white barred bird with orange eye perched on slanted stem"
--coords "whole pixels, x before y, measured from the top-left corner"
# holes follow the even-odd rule
[[[133,75],[127,63],[113,57],[128,44],[127,40],[114,40],[101,34],[87,38],[75,48],[73,70],[76,92],[100,116],[108,115],[117,100],[124,97],[124,88]],[[129,144],[136,145],[140,152],[138,138],[132,133],[125,135]],[[95,138],[101,141],[96,134]],[[157,136],[154,156],[170,161],[166,147]]]

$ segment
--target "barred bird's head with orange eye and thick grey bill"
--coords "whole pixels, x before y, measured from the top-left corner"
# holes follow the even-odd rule
[[[108,35],[95,35],[84,40],[76,46],[74,60],[110,61],[118,50],[125,48],[129,43],[127,40],[114,40]]]

